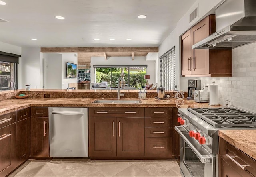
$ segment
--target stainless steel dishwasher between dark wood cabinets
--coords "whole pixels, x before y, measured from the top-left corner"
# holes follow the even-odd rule
[[[88,157],[88,108],[49,107],[50,157]]]

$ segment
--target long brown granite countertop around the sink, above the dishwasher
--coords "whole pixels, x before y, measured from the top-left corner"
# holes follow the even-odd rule
[[[196,103],[193,100],[176,98],[158,100],[154,98],[141,100],[139,104],[106,104],[93,103],[97,98],[25,98],[25,99],[11,99],[0,102],[0,115],[27,108],[30,106],[37,107],[216,107],[209,106],[208,103]],[[116,100],[111,98],[104,98],[104,100]],[[125,99],[138,100],[138,99]],[[218,106],[219,107],[219,106]]]

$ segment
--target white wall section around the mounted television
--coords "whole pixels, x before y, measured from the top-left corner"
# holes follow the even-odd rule
[[[66,78],[66,63],[77,64],[77,53],[61,53],[62,54],[62,89],[68,88],[68,83],[77,83],[77,78]],[[76,54],[76,56],[75,56]]]

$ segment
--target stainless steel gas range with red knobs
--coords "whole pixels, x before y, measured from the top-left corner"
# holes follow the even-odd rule
[[[218,130],[256,129],[256,114],[237,108],[178,109],[180,171],[185,177],[218,177]]]

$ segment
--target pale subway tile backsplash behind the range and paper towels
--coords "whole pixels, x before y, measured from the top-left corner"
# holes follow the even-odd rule
[[[220,63],[221,65],[221,63]],[[200,77],[202,85],[219,85],[219,101],[256,113],[256,43],[233,49],[232,77]]]

